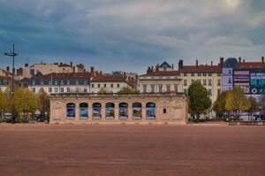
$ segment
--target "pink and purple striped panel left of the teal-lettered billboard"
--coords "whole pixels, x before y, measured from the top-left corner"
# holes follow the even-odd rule
[[[250,93],[250,75],[249,71],[235,71],[234,72],[234,86],[240,86],[245,94]]]

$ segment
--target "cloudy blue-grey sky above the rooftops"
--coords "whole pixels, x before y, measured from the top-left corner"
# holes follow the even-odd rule
[[[104,72],[265,56],[264,0],[0,0],[0,52]],[[1,67],[11,58],[0,56]]]

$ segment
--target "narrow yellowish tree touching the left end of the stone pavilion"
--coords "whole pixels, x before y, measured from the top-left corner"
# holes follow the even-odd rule
[[[35,97],[41,114],[44,115],[45,112],[49,112],[49,95],[43,89],[40,89]]]

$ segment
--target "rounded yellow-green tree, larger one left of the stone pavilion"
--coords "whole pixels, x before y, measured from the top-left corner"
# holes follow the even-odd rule
[[[34,113],[37,110],[37,103],[34,93],[28,88],[17,88],[13,97],[13,104],[17,115],[23,113],[23,121],[25,121],[25,115],[28,113]]]

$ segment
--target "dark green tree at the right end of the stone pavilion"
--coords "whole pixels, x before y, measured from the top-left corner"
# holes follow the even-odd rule
[[[208,96],[208,91],[196,80],[188,88],[189,112],[195,114],[200,119],[200,114],[205,113],[212,105],[212,101]]]

